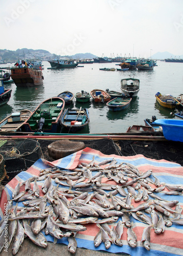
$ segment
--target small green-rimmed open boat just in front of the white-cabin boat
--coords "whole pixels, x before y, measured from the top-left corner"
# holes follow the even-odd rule
[[[114,98],[107,102],[107,106],[111,111],[121,111],[128,108],[132,98]]]

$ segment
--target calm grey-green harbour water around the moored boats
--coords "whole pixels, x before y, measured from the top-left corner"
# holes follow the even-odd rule
[[[101,71],[99,68],[119,68],[116,63],[84,64],[84,68],[63,70],[47,70],[49,62],[43,61],[44,83],[35,88],[17,88],[14,83],[5,84],[5,89],[12,89],[9,102],[0,108],[0,120],[3,120],[12,112],[23,109],[33,111],[43,100],[57,96],[68,90],[72,93],[81,90],[90,92],[93,89],[120,90],[120,81],[129,76],[140,79],[140,91],[136,99],[133,99],[129,108],[124,111],[112,112],[106,103],[73,102],[72,107],[89,109],[90,127],[81,133],[125,133],[133,124],[144,125],[145,118],[174,118],[171,110],[162,108],[155,103],[155,94],[172,94],[177,97],[183,93],[183,64],[158,61],[158,67],[153,71]],[[1,65],[12,67],[13,64]],[[80,65],[81,66],[81,65]],[[174,111],[173,111],[174,113]]]

